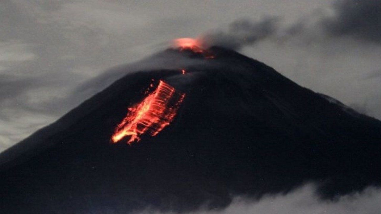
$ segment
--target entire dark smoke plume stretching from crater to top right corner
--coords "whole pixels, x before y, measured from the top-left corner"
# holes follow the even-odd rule
[[[267,38],[282,43],[292,38],[325,40],[327,37],[352,37],[361,42],[381,41],[381,1],[337,0],[331,6],[333,16],[311,13],[290,26],[280,26],[279,17],[259,21],[239,19],[227,29],[215,30],[201,37],[204,46],[222,46],[239,50]],[[317,20],[317,21],[316,21]]]

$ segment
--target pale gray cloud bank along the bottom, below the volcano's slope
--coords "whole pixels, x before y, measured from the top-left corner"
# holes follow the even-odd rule
[[[376,214],[381,209],[381,190],[369,187],[361,193],[341,196],[335,201],[320,200],[314,194],[314,185],[305,185],[288,194],[265,195],[259,201],[236,197],[223,210],[199,211],[190,214]],[[135,214],[173,214],[147,208]]]

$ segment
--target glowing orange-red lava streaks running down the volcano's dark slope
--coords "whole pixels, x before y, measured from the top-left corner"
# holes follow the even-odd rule
[[[157,135],[173,121],[185,94],[178,93],[168,83],[160,80],[159,85],[139,104],[128,108],[125,118],[115,128],[111,141],[116,143],[131,136],[128,144],[140,140],[139,135]]]

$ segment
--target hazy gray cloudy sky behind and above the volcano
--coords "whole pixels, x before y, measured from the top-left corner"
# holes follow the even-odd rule
[[[378,0],[1,1],[0,151],[80,104],[68,97],[86,80],[162,50],[174,38],[200,35],[381,118],[380,5]]]

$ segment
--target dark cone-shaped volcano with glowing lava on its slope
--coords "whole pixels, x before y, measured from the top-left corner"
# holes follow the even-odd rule
[[[187,212],[309,182],[323,200],[381,184],[380,121],[232,50],[152,59],[176,68],[128,73],[0,154],[2,212]],[[144,101],[157,107],[142,121],[129,112]],[[139,132],[110,141],[121,127]]]

